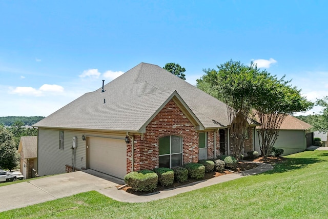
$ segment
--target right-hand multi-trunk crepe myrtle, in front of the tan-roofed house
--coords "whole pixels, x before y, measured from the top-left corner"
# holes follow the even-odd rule
[[[260,150],[263,156],[269,156],[277,141],[280,126],[286,116],[295,112],[307,111],[313,103],[301,96],[301,90],[278,79],[267,71],[261,71],[261,89],[254,93],[253,116],[261,125],[257,130]]]

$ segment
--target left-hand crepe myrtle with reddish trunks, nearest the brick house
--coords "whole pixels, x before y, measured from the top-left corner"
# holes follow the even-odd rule
[[[253,108],[253,93],[260,88],[260,70],[230,60],[215,69],[203,69],[204,75],[197,80],[197,87],[226,103],[232,155],[239,160],[243,143],[248,136],[248,116]]]

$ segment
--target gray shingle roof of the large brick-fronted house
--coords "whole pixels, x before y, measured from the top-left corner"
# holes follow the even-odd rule
[[[226,104],[157,65],[140,63],[104,90],[80,96],[34,126],[140,131],[174,91],[206,129],[229,123]]]

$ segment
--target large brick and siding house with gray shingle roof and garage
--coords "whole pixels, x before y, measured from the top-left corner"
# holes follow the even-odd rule
[[[40,176],[93,169],[123,178],[131,171],[229,154],[227,106],[146,63],[34,126]],[[245,147],[252,150],[253,140]]]

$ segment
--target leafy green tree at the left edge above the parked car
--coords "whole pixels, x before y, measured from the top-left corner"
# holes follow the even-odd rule
[[[17,166],[18,156],[12,133],[0,126],[0,168],[13,169]]]

